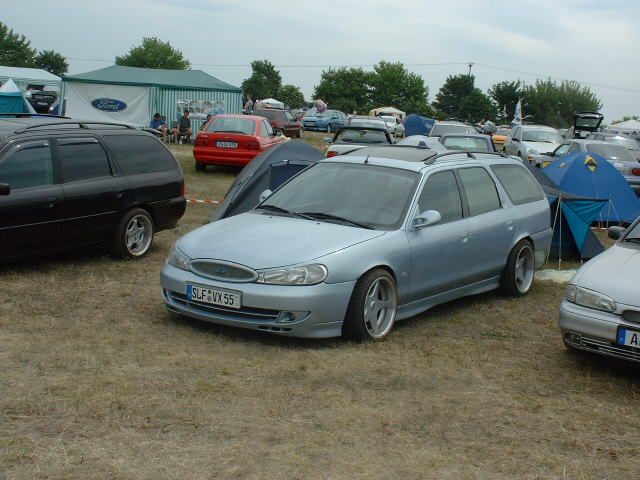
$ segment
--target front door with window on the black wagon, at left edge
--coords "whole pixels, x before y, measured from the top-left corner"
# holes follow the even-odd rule
[[[21,141],[5,151],[0,183],[10,187],[0,196],[0,258],[59,248],[64,195],[50,141]]]

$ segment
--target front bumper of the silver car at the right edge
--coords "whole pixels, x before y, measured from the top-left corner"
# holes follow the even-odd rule
[[[618,309],[633,307],[618,304]],[[620,315],[582,307],[566,300],[560,305],[560,330],[567,345],[588,352],[640,363],[640,349],[618,345],[618,327],[640,331],[640,324],[625,321]]]

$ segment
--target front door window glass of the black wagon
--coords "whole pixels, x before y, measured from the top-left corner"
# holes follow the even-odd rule
[[[8,183],[12,190],[53,185],[49,143],[27,143],[0,160],[0,183]]]

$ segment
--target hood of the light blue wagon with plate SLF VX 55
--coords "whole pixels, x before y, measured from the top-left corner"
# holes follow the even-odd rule
[[[188,257],[239,263],[253,269],[308,262],[384,235],[328,222],[247,212],[188,233],[178,248]]]

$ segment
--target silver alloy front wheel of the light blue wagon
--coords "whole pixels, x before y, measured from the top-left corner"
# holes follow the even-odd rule
[[[364,324],[373,338],[382,338],[396,318],[396,287],[387,277],[378,277],[364,299]]]

